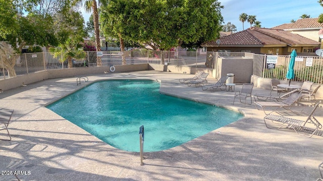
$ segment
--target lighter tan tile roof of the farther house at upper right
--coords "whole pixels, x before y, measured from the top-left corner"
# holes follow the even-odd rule
[[[287,29],[323,28],[323,23],[318,23],[317,21],[318,21],[318,18],[299,19],[295,23],[286,23],[283,25],[273,27],[272,29],[287,30]]]

